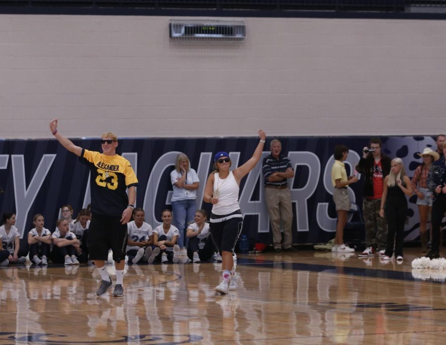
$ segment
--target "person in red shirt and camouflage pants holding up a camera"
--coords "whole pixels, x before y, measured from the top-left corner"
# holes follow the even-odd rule
[[[384,255],[386,248],[387,222],[380,217],[380,208],[384,178],[390,173],[390,158],[381,152],[382,146],[381,139],[372,138],[356,165],[356,170],[364,176],[362,212],[366,233],[366,249],[359,257],[374,256],[376,251]]]

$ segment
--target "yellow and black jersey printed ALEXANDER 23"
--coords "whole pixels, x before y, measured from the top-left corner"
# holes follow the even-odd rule
[[[84,148],[80,160],[90,168],[92,214],[122,215],[128,205],[127,188],[138,186],[130,162],[118,154],[107,156]]]

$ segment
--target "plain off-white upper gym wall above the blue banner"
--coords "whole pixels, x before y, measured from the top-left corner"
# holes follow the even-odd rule
[[[0,138],[446,131],[446,22],[246,18],[174,44],[172,17],[0,15]]]

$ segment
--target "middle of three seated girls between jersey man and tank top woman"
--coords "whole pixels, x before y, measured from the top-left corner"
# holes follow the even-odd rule
[[[157,226],[153,231],[153,242],[155,243],[155,246],[159,247],[161,250],[156,259],[161,259],[162,263],[167,263],[169,261],[176,263],[178,262],[180,251],[180,247],[176,244],[176,239],[180,234],[178,229],[170,224],[172,221],[172,211],[165,209],[161,212],[161,218],[163,224]]]

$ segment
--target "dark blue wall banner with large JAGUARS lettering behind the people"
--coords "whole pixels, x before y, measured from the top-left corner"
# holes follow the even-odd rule
[[[270,138],[272,139],[272,138]],[[264,156],[269,154],[269,140]],[[358,162],[362,148],[370,138],[279,138],[282,153],[288,155],[295,176],[290,179],[293,200],[293,243],[312,244],[326,242],[334,237],[335,206],[332,199],[331,168],[333,149],[337,144],[350,148],[346,161],[351,173]],[[407,174],[411,177],[421,162],[417,155],[425,147],[436,149],[431,137],[388,137],[383,140],[383,152],[391,158],[403,159]],[[100,150],[99,139],[74,140],[76,145]],[[137,206],[146,211],[146,221],[153,227],[161,224],[161,211],[170,208],[172,186],[170,171],[174,168],[179,152],[189,156],[191,167],[200,178],[197,208],[210,211],[210,204],[202,201],[203,190],[213,164],[215,152],[230,153],[233,167],[243,164],[256,148],[258,138],[223,139],[121,139],[118,153],[133,165],[139,180]],[[15,211],[17,228],[26,238],[34,226],[33,215],[45,217],[45,227],[53,231],[60,207],[70,204],[77,212],[90,203],[89,171],[56,140],[6,140],[0,141],[0,194],[1,211]],[[363,181],[352,184],[349,194],[359,205],[362,203]],[[409,202],[410,219],[406,225],[405,240],[417,238],[418,210],[416,197]],[[271,243],[269,217],[264,201],[261,162],[245,177],[240,185],[240,207],[245,216],[243,232],[251,241]],[[352,218],[353,217],[353,218]],[[358,215],[350,219],[358,220]],[[348,237],[348,234],[346,234]],[[25,245],[25,241],[22,241]]]

